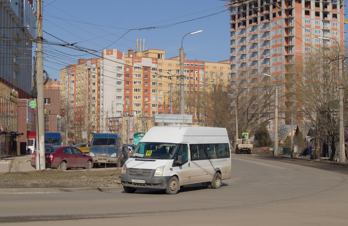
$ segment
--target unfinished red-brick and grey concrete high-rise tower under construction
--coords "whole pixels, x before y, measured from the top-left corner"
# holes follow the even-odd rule
[[[324,49],[326,53],[329,48],[338,49],[337,45],[344,49],[344,6],[342,0],[250,0],[232,4],[232,88],[250,90],[257,84],[268,86],[266,92],[274,92],[278,85],[278,126],[288,124],[286,111],[291,106],[301,107],[295,105],[293,69],[306,61],[311,52]],[[264,73],[272,78],[266,79]],[[253,83],[253,79],[258,83]],[[274,112],[273,105],[261,118],[269,130],[275,128]]]

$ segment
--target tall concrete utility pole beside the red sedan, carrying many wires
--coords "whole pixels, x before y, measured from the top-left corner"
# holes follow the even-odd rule
[[[38,90],[38,130],[39,130],[39,149],[37,153],[40,155],[40,167],[39,169],[46,168],[46,159],[45,159],[45,120],[44,116],[44,57],[42,51],[42,2],[43,0],[36,1],[36,79],[37,79],[37,90]]]

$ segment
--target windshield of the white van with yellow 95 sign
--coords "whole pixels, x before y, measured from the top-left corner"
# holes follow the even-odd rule
[[[178,144],[160,142],[139,143],[130,158],[171,159]]]

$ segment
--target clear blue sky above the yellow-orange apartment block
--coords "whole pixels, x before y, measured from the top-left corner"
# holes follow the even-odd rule
[[[229,59],[230,55],[230,17],[223,6],[225,3],[220,0],[46,0],[44,39],[77,43],[75,45],[98,51],[104,48],[118,49],[125,53],[129,48],[135,49],[137,38],[145,39],[145,49],[164,49],[166,58],[170,58],[179,55],[185,34],[203,30],[185,36],[183,48],[187,59],[217,62]],[[220,13],[209,16],[217,12]],[[199,17],[205,18],[196,19]],[[187,20],[192,21],[180,23]],[[180,24],[173,25],[175,23]],[[146,27],[156,28],[129,31]],[[50,78],[58,80],[59,70],[66,65],[76,64],[81,57],[95,57],[57,45],[46,44],[44,51],[44,69]],[[100,56],[100,52],[96,54]]]

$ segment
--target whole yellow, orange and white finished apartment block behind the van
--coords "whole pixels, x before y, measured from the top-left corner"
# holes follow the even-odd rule
[[[193,124],[204,125],[203,109],[197,111],[201,101],[198,95],[203,98],[214,84],[227,90],[230,60],[184,59],[184,76],[185,114],[193,115]],[[127,133],[124,140],[130,141],[133,132],[147,132],[155,125],[155,114],[179,114],[180,58],[165,59],[164,50],[144,47],[129,49],[127,54],[104,49],[101,58],[80,59],[78,64],[62,69],[60,86],[64,103],[69,105],[71,131],[76,130],[76,124],[83,124],[83,120],[86,125],[93,121],[89,126],[94,132]],[[89,100],[89,104],[81,104],[81,98]],[[79,111],[81,114],[77,114]]]

